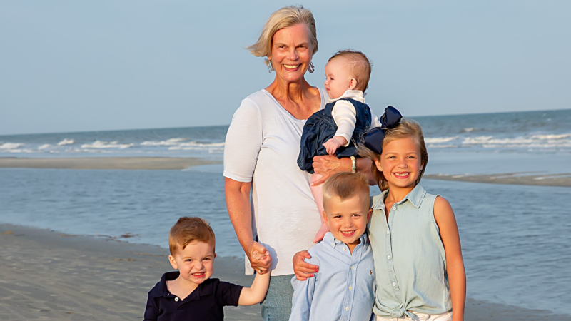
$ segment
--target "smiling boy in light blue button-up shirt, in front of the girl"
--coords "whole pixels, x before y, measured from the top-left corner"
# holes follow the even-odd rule
[[[323,184],[323,217],[330,228],[310,248],[315,277],[291,280],[290,321],[368,321],[375,302],[375,267],[368,244],[369,185],[358,173],[338,173]]]

